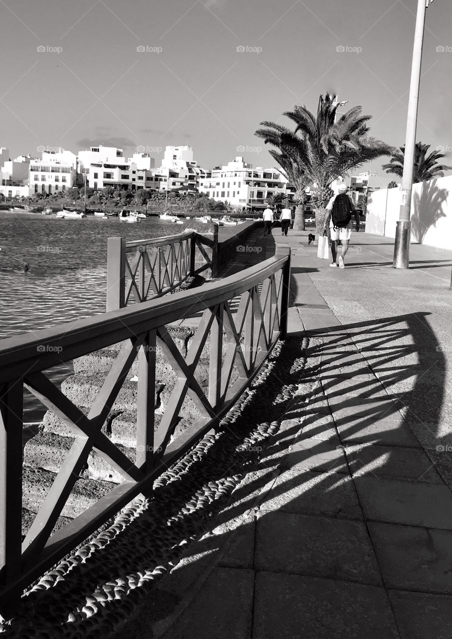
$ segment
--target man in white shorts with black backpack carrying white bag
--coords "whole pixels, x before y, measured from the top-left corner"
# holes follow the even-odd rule
[[[331,233],[331,256],[333,261],[329,266],[333,268],[339,266],[339,268],[345,268],[343,258],[347,250],[349,250],[350,235],[352,235],[352,213],[356,219],[356,230],[359,231],[359,215],[355,208],[355,205],[347,195],[347,185],[341,184],[339,187],[339,194],[331,197],[326,206],[327,213],[324,220],[324,231],[326,231],[329,225],[329,231]],[[341,254],[338,258],[336,242],[342,242]]]

